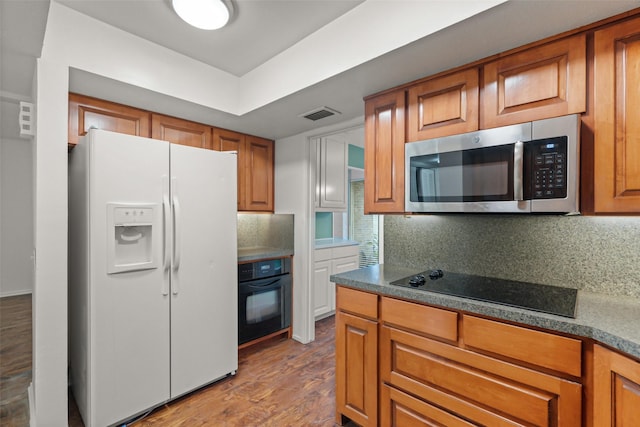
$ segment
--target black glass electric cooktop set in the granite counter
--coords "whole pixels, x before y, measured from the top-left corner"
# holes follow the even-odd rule
[[[578,295],[578,291],[571,288],[442,270],[425,271],[391,284],[572,318]]]

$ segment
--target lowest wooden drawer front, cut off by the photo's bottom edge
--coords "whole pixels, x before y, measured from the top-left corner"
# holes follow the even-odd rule
[[[380,388],[380,425],[471,427],[463,419],[386,384]]]

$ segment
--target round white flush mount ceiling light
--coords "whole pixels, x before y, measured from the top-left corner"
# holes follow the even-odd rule
[[[183,21],[202,30],[224,27],[231,17],[231,2],[225,0],[171,0]]]

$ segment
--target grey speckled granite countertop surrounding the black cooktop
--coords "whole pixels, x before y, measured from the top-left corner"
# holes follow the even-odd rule
[[[344,286],[427,304],[464,310],[552,331],[592,338],[640,358],[640,300],[578,291],[575,319],[506,305],[437,294],[390,285],[415,275],[419,269],[379,264],[334,274],[331,281]]]

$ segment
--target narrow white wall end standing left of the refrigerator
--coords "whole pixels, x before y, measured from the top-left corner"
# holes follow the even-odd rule
[[[67,425],[67,104],[69,68],[39,59],[36,89],[32,426]]]

